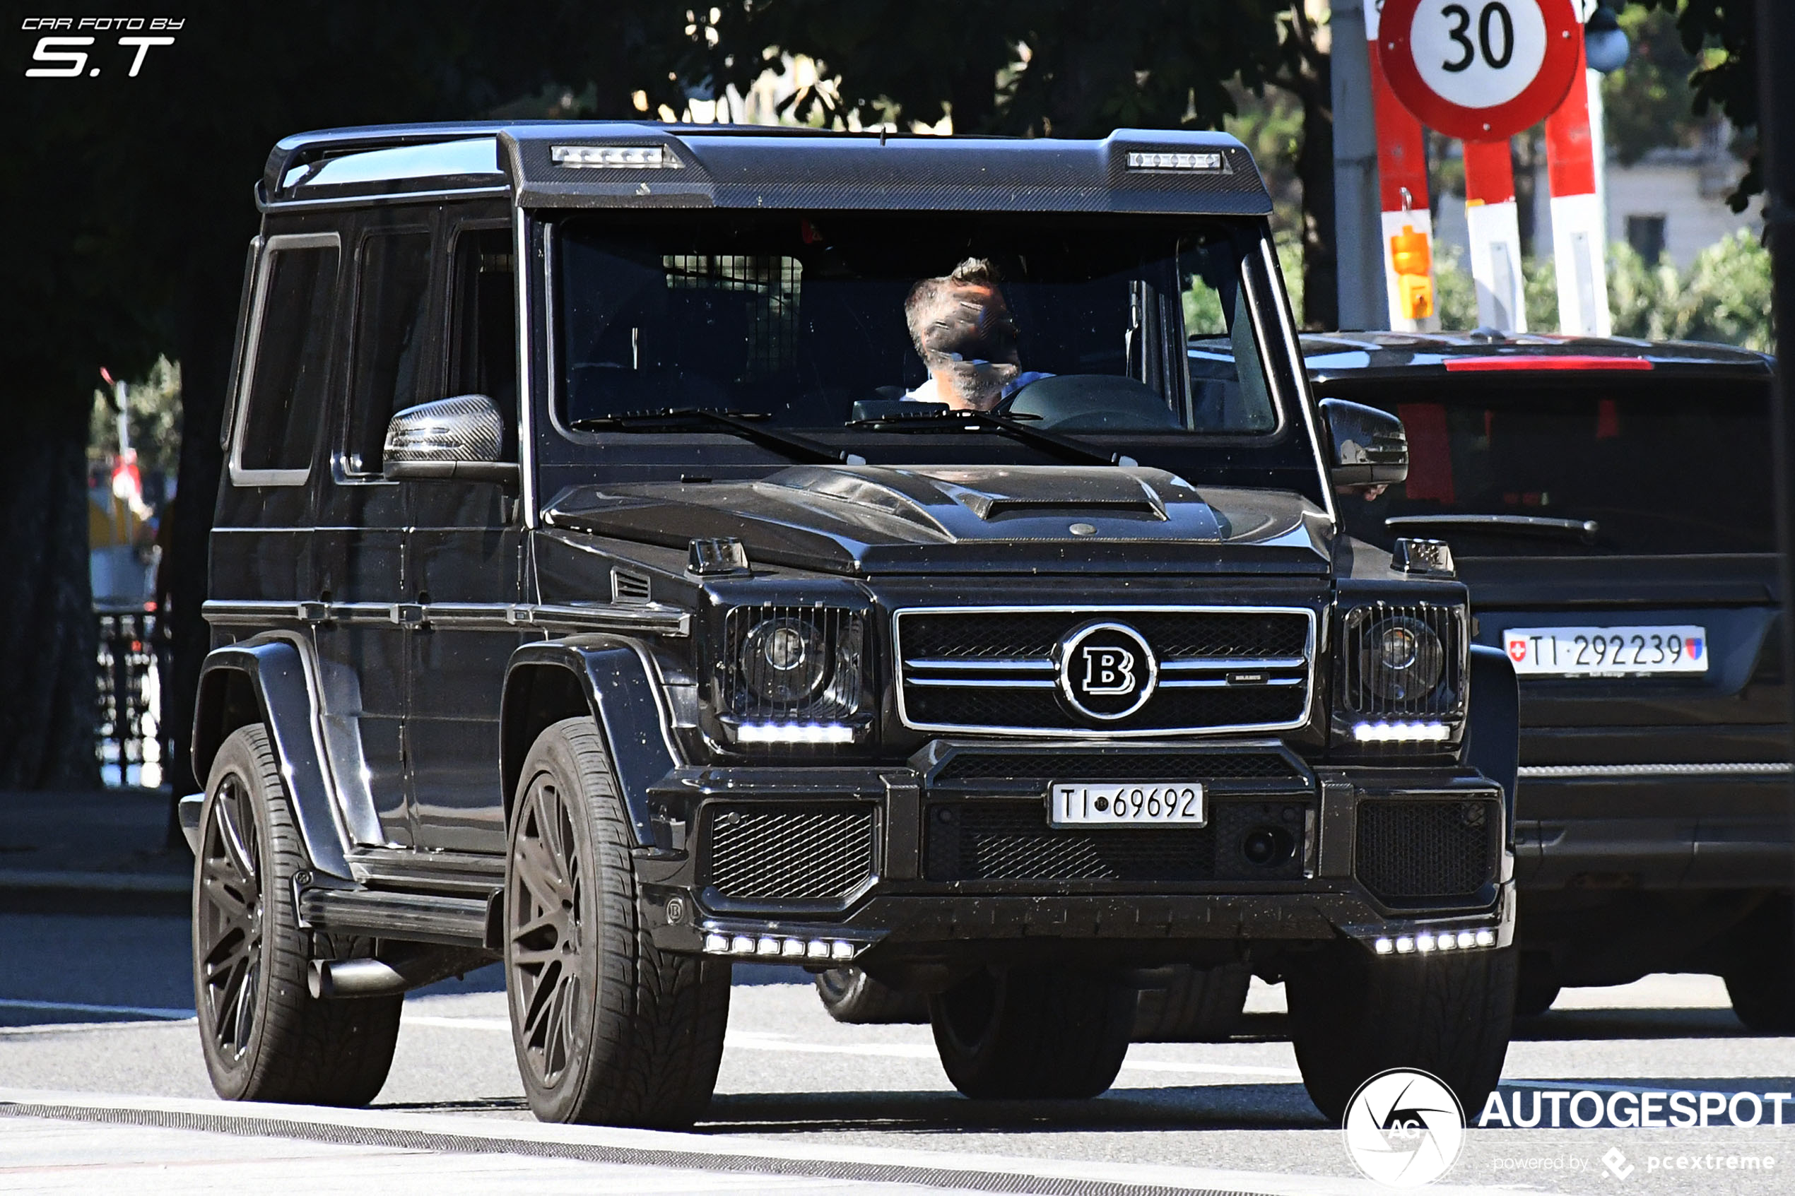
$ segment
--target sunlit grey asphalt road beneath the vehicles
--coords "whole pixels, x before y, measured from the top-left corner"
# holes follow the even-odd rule
[[[797,983],[777,983],[786,975]],[[921,1191],[906,1182],[917,1176],[935,1189],[953,1189],[951,1176],[960,1173],[951,1167],[928,1164],[935,1171],[915,1171],[923,1166],[917,1160],[939,1162],[950,1155],[980,1174],[1011,1176],[1002,1180],[1003,1191],[1099,1191],[1090,1183],[1161,1191],[1388,1191],[1357,1178],[1341,1133],[1327,1128],[1309,1103],[1291,1045],[1280,1038],[1282,990],[1256,983],[1251,1033],[1235,1042],[1136,1045],[1116,1087],[1095,1101],[973,1103],[953,1092],[926,1026],[838,1026],[822,1011],[802,972],[759,966],[738,974],[716,1099],[698,1133],[635,1133],[628,1140],[786,1160],[908,1160],[903,1166],[910,1167],[804,1183],[765,1174],[720,1178],[709,1164],[664,1173],[655,1166],[632,1171],[598,1155],[553,1166],[531,1160],[544,1149],[574,1149],[542,1146],[549,1139],[585,1144],[580,1149],[623,1139],[617,1131],[583,1128],[549,1133],[533,1124],[512,1060],[499,984],[497,968],[485,968],[415,993],[406,1004],[391,1078],[372,1114],[316,1114],[332,1126],[325,1139],[294,1142],[276,1135],[273,1140],[284,1142],[278,1148],[244,1153],[241,1133],[221,1131],[228,1126],[217,1117],[235,1110],[212,1101],[188,1017],[183,920],[0,914],[0,1103],[32,1108],[61,1103],[59,1117],[86,1119],[0,1117],[0,1191],[75,1191],[75,1185],[108,1187],[113,1178],[133,1191],[160,1191],[145,1189],[138,1173],[165,1167],[171,1158],[208,1162],[181,1182],[181,1191],[242,1191],[241,1183],[258,1174],[257,1167],[266,1169],[266,1158],[289,1155],[302,1160],[293,1166],[323,1169],[320,1174],[337,1166],[373,1167],[397,1182],[391,1187],[382,1180],[382,1191],[429,1189],[436,1196],[461,1191],[463,1183],[483,1192],[512,1185],[533,1192],[564,1185],[594,1192],[808,1191],[810,1185],[885,1191],[894,1176],[892,1191]],[[1727,1010],[1725,990],[1709,977],[1666,975],[1616,990],[1571,990],[1553,1011],[1520,1027],[1508,1054],[1502,1096],[1504,1103],[1519,1096],[1526,1105],[1535,1092],[1560,1088],[1601,1096],[1614,1088],[1691,1090],[1729,1099],[1736,1092],[1795,1092],[1795,1040],[1747,1035]],[[111,1112],[95,1114],[95,1105]],[[68,1112],[75,1106],[88,1112]],[[382,1155],[386,1146],[366,1144],[366,1124],[373,1122],[355,1117],[388,1126],[381,1142],[406,1140],[415,1148]],[[1795,1169],[1795,1103],[1784,1119],[1791,1128],[1770,1126],[1766,1112],[1764,1124],[1754,1128],[1711,1122],[1635,1130],[1603,1122],[1580,1130],[1567,1122],[1558,1130],[1472,1130],[1441,1185],[1786,1192],[1795,1185],[1784,1174],[1784,1167]],[[162,1128],[145,1128],[147,1122]],[[393,1139],[391,1126],[528,1139],[533,1146],[517,1146],[515,1158],[506,1153],[512,1148],[479,1146],[485,1151],[479,1166],[456,1169],[443,1158],[474,1149],[454,1144],[470,1139]],[[104,1176],[83,1171],[102,1142],[113,1169]],[[1729,1158],[1747,1157],[1757,1162],[1727,1169]],[[1768,1171],[1738,1169],[1763,1167],[1764,1157],[1773,1158]],[[993,1183],[975,1187],[989,1191]]]

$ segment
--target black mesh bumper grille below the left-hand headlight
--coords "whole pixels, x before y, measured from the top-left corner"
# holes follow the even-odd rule
[[[872,877],[867,805],[714,805],[705,870],[734,900],[840,900]]]

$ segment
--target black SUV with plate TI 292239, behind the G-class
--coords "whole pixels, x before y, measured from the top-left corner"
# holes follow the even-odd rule
[[[1475,642],[1520,674],[1520,1011],[1711,972],[1748,1027],[1795,1031],[1770,360],[1357,332],[1303,355],[1409,436],[1407,479],[1343,498],[1344,527],[1449,542]]]

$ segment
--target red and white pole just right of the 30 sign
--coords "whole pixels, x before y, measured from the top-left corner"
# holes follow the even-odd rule
[[[1558,271],[1558,330],[1614,335],[1608,312],[1607,230],[1596,194],[1596,147],[1589,127],[1589,79],[1578,39],[1576,82],[1545,118],[1545,174],[1553,190],[1553,265]]]

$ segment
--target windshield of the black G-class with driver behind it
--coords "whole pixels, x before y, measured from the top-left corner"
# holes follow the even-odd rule
[[[1264,439],[1285,420],[1242,285],[1256,237],[1188,217],[573,217],[553,242],[555,418],[589,439],[702,407],[831,430],[869,461],[939,454],[887,432],[955,411],[1097,439]],[[1194,334],[1226,339],[1226,371],[1190,375]]]

